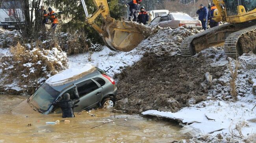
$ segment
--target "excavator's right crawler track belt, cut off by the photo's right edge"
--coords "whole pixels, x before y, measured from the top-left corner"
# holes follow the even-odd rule
[[[239,53],[239,51],[237,51],[237,46],[238,46],[237,43],[239,41],[239,38],[241,38],[244,34],[249,33],[251,31],[255,31],[255,30],[256,30],[256,25],[253,25],[251,27],[242,29],[240,31],[237,31],[235,33],[228,35],[224,43],[224,50],[227,56],[231,58],[237,58],[238,56],[243,54],[243,52]],[[243,49],[240,49],[240,51],[243,51]]]

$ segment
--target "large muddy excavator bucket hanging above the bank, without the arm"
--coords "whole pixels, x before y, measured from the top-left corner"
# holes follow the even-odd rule
[[[105,23],[103,29],[102,38],[106,46],[113,51],[122,52],[131,51],[151,33],[151,29],[144,25],[113,18]]]

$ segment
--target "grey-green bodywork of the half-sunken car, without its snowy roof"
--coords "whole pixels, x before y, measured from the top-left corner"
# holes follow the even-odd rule
[[[43,114],[50,114],[53,111],[59,113],[61,110],[55,109],[52,103],[61,99],[62,95],[65,93],[69,93],[70,98],[72,99],[74,98],[73,93],[75,92],[79,95],[80,101],[76,104],[78,106],[74,108],[74,112],[99,107],[102,100],[107,97],[115,99],[117,95],[116,85],[111,83],[111,81],[104,77],[103,74],[111,78],[106,72],[94,67],[92,72],[82,76],[79,75],[77,78],[75,77],[76,80],[62,85],[55,86],[45,82],[32,96],[30,96],[30,98],[28,98],[27,102],[30,107]],[[45,87],[44,91],[46,90],[51,94],[54,94],[54,96],[49,96],[50,98],[48,98],[48,92],[45,91],[41,93],[40,88],[42,87]]]

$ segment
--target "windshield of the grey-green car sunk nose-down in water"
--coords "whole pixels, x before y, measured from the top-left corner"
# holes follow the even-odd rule
[[[52,101],[54,101],[59,95],[59,92],[53,89],[47,83],[43,84],[37,91],[33,94],[30,103],[34,105],[41,112],[46,112],[50,107]]]

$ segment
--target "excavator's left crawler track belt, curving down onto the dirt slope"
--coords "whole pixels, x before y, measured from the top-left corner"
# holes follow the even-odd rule
[[[204,36],[206,34],[211,34],[211,33],[215,33],[217,31],[221,31],[221,30],[224,30],[226,27],[230,26],[232,24],[223,24],[223,25],[220,25],[220,26],[217,26],[217,27],[213,27],[211,29],[208,29],[206,31],[203,31],[201,33],[198,33],[198,34],[195,34],[195,35],[191,35],[191,36],[188,36],[187,38],[185,38],[182,43],[181,43],[181,46],[180,46],[180,50],[181,50],[181,54],[182,56],[193,56],[195,55],[195,53],[193,53],[193,49],[192,49],[192,41],[195,39],[195,38],[199,38],[201,36]]]

